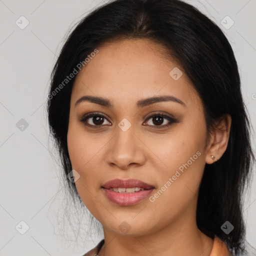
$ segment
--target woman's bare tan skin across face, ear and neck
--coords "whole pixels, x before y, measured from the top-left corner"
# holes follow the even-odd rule
[[[202,101],[184,72],[178,80],[169,75],[174,67],[182,68],[161,54],[161,45],[129,39],[104,43],[98,50],[76,76],[67,133],[72,168],[80,175],[77,191],[103,225],[105,243],[98,255],[209,256],[213,239],[196,226],[196,201],[205,163],[213,163],[226,149],[231,117],[223,115],[206,145]],[[88,101],[75,106],[84,95],[107,98],[113,107]],[[159,95],[175,96],[185,106],[173,101],[136,106],[137,100]],[[101,127],[92,118],[87,123],[99,128],[79,121],[94,111],[106,116]],[[178,121],[155,128],[154,118],[147,117],[159,111]],[[123,118],[131,124],[125,132],[118,126]],[[158,126],[166,123],[163,119]],[[146,198],[121,206],[101,188],[114,178],[136,178],[157,191],[197,151],[200,156],[153,202]],[[130,227],[126,233],[118,228],[123,221]]]

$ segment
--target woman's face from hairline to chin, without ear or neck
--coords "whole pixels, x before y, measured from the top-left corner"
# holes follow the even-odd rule
[[[209,157],[203,107],[185,73],[162,52],[145,39],[107,43],[75,79],[67,133],[72,168],[80,175],[75,185],[110,232],[142,235],[195,222]],[[83,96],[100,97],[112,106],[96,100],[75,104]],[[173,100],[144,101],[159,96]],[[93,112],[94,117],[80,121]],[[116,178],[138,179],[153,188],[128,195],[102,187]],[[136,201],[135,193],[142,199]]]

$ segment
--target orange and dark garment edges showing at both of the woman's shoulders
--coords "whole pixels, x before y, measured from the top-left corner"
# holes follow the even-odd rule
[[[94,248],[92,248],[82,256],[97,256],[97,253],[99,252],[103,244],[104,239],[102,239]],[[210,256],[232,256],[232,254],[228,251],[225,243],[215,235]]]

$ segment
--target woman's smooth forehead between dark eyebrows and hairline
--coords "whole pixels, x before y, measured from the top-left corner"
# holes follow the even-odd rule
[[[129,39],[104,43],[97,49],[98,53],[77,74],[72,97],[89,94],[121,103],[170,94],[189,105],[197,94],[182,68],[167,59],[164,47],[159,44]],[[180,71],[180,78],[173,79],[172,70]]]

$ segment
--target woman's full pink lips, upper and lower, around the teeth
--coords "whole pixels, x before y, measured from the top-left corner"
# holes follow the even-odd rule
[[[140,190],[138,192],[133,192],[133,193],[119,193],[109,189],[111,187],[124,187],[124,188],[141,187],[141,188],[144,188],[144,190]],[[153,185],[147,184],[138,179],[127,179],[127,180],[112,179],[104,183],[102,185],[102,188],[106,197],[112,202],[119,205],[136,204],[144,200],[146,197],[148,197],[154,190]]]

